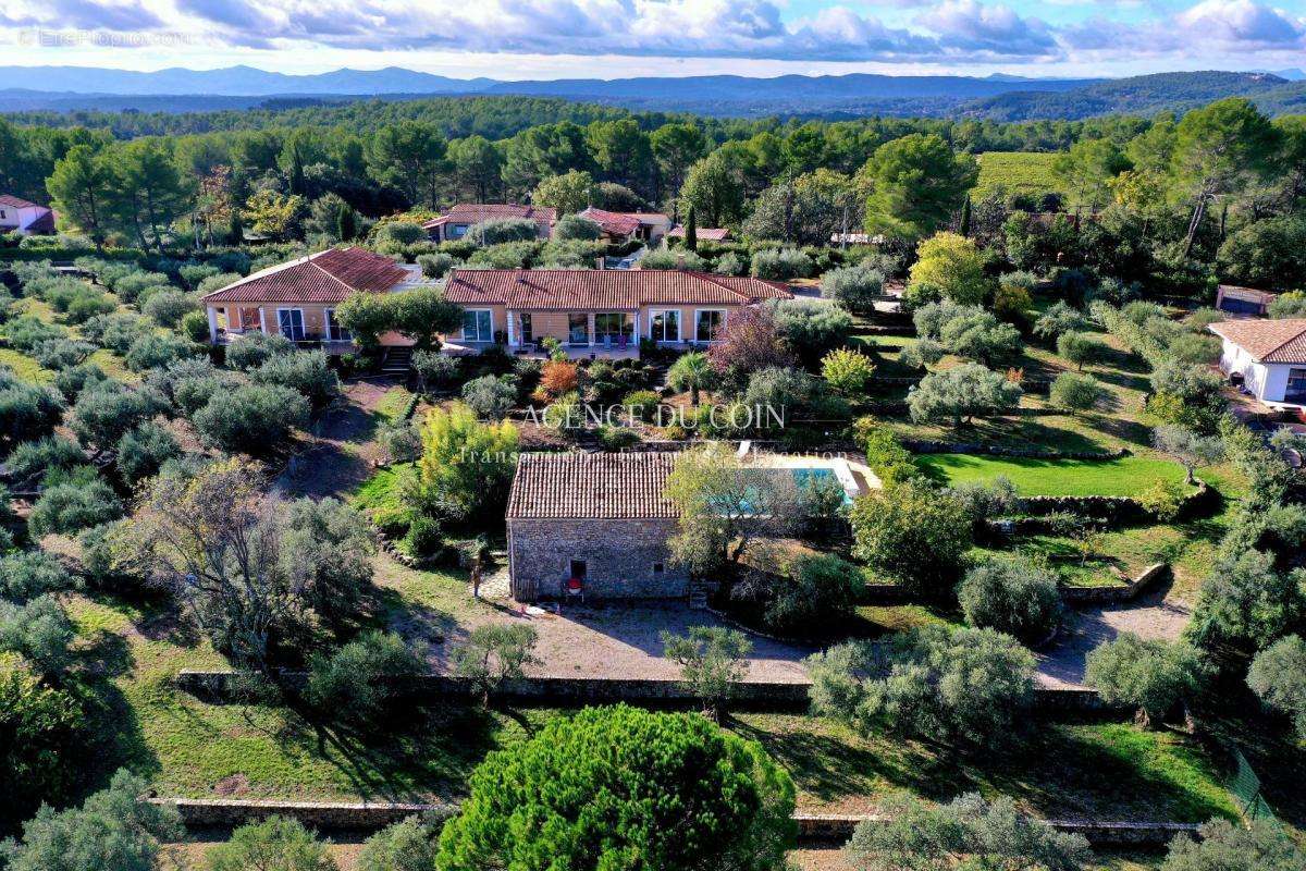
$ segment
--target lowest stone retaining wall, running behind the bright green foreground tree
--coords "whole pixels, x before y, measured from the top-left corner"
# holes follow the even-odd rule
[[[430,814],[449,817],[458,812],[451,803],[374,802],[279,802],[247,799],[149,798],[151,804],[175,807],[191,829],[235,828],[269,816],[299,820],[319,832],[372,832],[410,816]],[[858,823],[884,821],[880,816],[795,814],[799,842],[844,842]],[[1062,832],[1083,834],[1093,846],[1165,846],[1177,834],[1196,834],[1187,823],[1113,823],[1102,820],[1049,820]]]

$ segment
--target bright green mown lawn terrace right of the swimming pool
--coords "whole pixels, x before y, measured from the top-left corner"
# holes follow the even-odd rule
[[[963,453],[917,457],[931,477],[949,484],[1006,475],[1025,496],[1136,496],[1156,481],[1183,481],[1183,469],[1166,460],[1032,460]]]

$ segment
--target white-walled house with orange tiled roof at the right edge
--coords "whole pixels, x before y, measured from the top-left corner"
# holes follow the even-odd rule
[[[1211,324],[1224,340],[1220,368],[1262,402],[1306,405],[1306,319]]]

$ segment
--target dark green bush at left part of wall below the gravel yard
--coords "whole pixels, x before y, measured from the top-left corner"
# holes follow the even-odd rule
[[[398,713],[411,682],[426,671],[418,652],[393,632],[364,632],[308,661],[304,697],[323,714],[377,729]]]

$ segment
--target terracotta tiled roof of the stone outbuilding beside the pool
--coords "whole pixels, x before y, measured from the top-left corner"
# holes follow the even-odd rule
[[[666,479],[675,453],[524,453],[508,518],[674,518]]]

